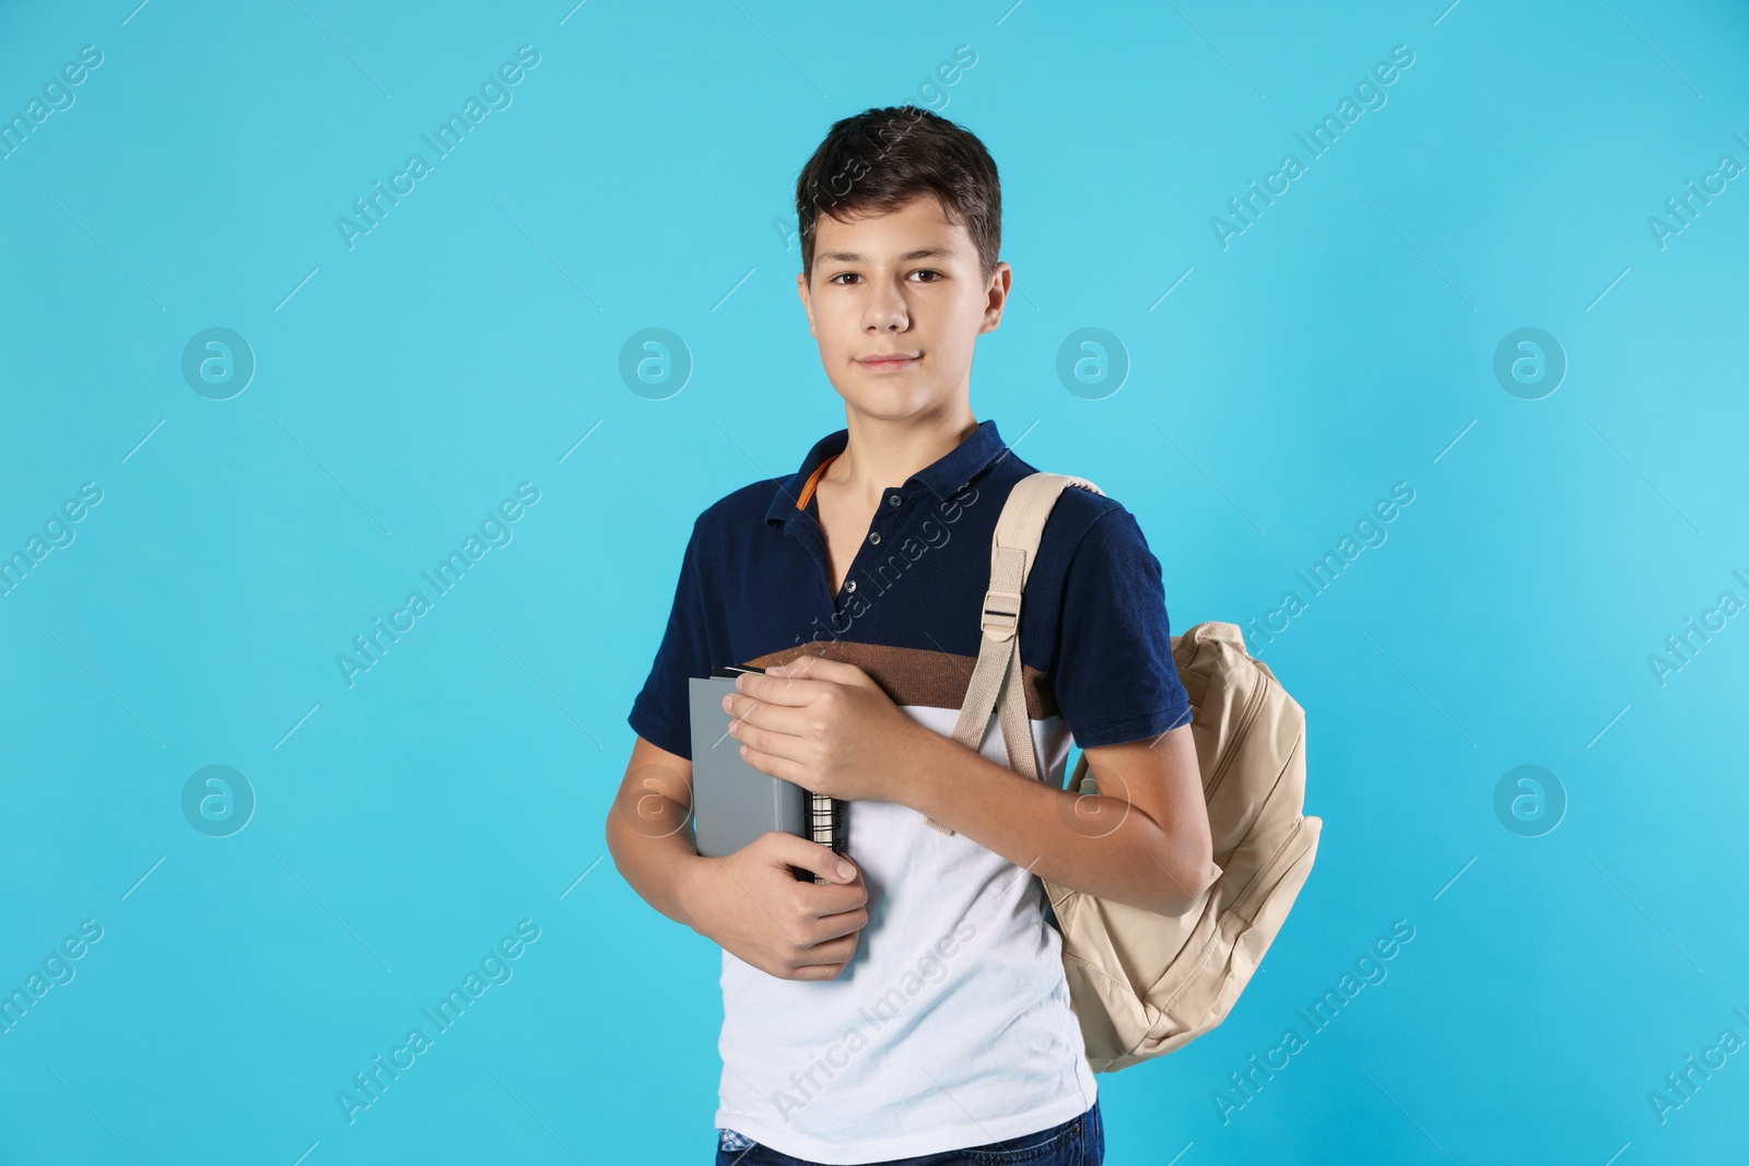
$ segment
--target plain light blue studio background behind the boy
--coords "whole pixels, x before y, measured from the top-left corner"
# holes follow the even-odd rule
[[[1749,164],[1740,5],[135,3],[0,10],[5,117],[103,52],[0,161],[0,549],[103,489],[0,598],[0,988],[103,927],[0,1035],[0,1161],[710,1161],[719,953],[605,858],[624,717],[691,519],[843,425],[798,168],[962,44],[943,112],[1016,271],[974,413],[1140,517],[1175,628],[1263,615],[1415,489],[1258,645],[1322,850],[1231,1017],[1100,1079],[1107,1161],[1742,1157],[1749,1052],[1665,1124],[1648,1093],[1749,1038],[1749,615],[1663,687],[1648,654],[1749,600],[1749,180],[1646,224]],[[336,217],[525,44],[348,250]],[[1389,103],[1223,250],[1210,217],[1397,44]],[[231,400],[182,379],[208,327],[259,362]],[[666,400],[617,374],[645,327],[694,362]],[[1104,400],[1055,374],[1083,327],[1132,362]],[[1520,327],[1567,353],[1543,400],[1492,374]],[[523,481],[514,540],[348,687],[336,654]],[[259,799],[231,837],[180,809],[208,764]],[[1518,764],[1567,792],[1551,834],[1495,818]],[[518,920],[514,979],[348,1126],[336,1091]],[[1223,1124],[1394,920],[1389,979]]]

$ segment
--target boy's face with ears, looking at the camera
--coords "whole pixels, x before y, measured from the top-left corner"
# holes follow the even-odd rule
[[[901,420],[965,399],[972,346],[1002,322],[1011,280],[1004,262],[985,278],[971,234],[922,194],[852,222],[820,215],[813,278],[798,273],[796,290],[845,404]]]

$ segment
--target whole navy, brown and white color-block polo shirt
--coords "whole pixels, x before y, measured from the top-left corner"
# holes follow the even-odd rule
[[[803,652],[861,666],[908,717],[953,734],[983,638],[990,537],[1035,470],[983,421],[881,491],[834,593],[813,493],[847,441],[820,439],[789,477],[736,489],[693,523],[628,717],[638,736],[691,757],[689,677]],[[1189,720],[1160,561],[1118,502],[1062,493],[1027,580],[1020,657],[1048,785],[1062,787],[1070,739],[1149,739]],[[995,717],[979,753],[1007,764]],[[869,921],[834,979],[782,979],[722,949],[715,1126],[806,1161],[876,1163],[1084,1114],[1098,1084],[1039,876],[899,802],[848,802],[847,832]]]

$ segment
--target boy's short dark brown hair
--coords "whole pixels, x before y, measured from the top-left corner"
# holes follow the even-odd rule
[[[834,122],[796,178],[801,269],[813,278],[813,227],[822,213],[847,222],[918,194],[939,199],[965,227],[988,278],[1002,246],[1002,184],[974,133],[915,105],[871,108]]]

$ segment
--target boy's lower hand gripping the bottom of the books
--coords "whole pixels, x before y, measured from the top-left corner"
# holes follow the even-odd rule
[[[833,883],[803,883],[791,867]],[[869,921],[855,864],[784,830],[724,858],[703,858],[696,871],[687,886],[693,930],[778,979],[838,979]]]

